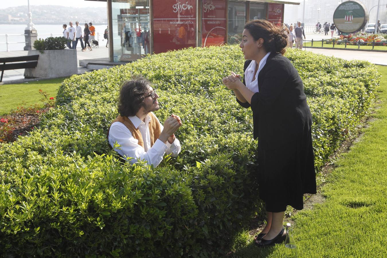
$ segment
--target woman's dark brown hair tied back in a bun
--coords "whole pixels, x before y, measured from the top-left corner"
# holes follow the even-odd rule
[[[264,48],[267,52],[285,53],[288,45],[288,28],[274,26],[271,22],[264,19],[252,20],[245,24],[245,29],[250,32],[254,40],[262,38]]]

